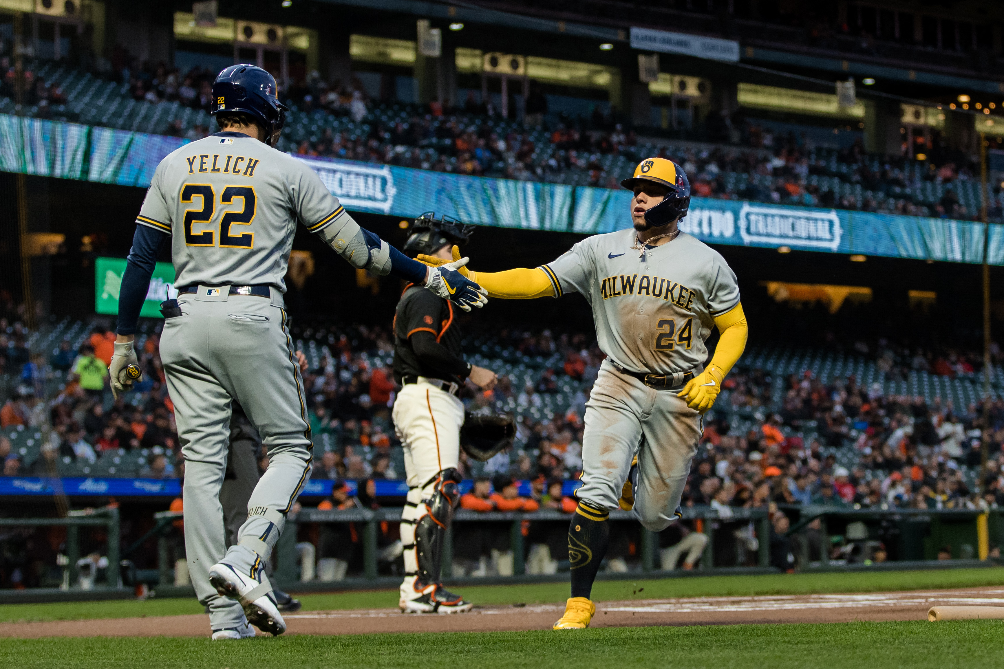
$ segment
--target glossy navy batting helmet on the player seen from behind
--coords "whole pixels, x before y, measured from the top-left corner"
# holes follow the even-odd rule
[[[278,140],[287,110],[277,96],[275,77],[255,65],[231,65],[213,82],[210,113],[248,114],[264,128],[269,146]]]

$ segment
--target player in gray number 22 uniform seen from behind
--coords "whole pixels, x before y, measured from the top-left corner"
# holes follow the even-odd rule
[[[233,65],[213,84],[221,131],[185,144],[158,165],[137,217],[122,277],[112,390],[138,368],[133,338],[158,252],[171,242],[177,300],[162,304],[161,358],[185,455],[185,547],[214,639],[253,636],[249,622],[285,631],[264,566],[310,475],[303,381],[286,328],[286,265],[296,225],[317,234],[357,269],[418,283],[470,310],[482,289],[460,264],[425,265],[362,230],[320,179],[277,151],[285,119],[275,80]],[[248,501],[235,546],[225,549],[220,485],[231,403],[240,402],[268,448],[269,466]]]

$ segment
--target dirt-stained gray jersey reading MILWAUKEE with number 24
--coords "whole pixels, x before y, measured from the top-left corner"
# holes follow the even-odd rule
[[[625,369],[686,372],[704,363],[714,317],[739,304],[722,256],[681,232],[645,253],[634,230],[594,235],[542,266],[554,295],[577,292],[592,307],[599,348]]]

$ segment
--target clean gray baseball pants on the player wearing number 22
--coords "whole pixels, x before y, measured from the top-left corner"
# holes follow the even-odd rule
[[[220,486],[227,467],[231,402],[244,407],[268,449],[268,469],[248,501],[238,544],[268,560],[310,475],[310,426],[303,380],[286,331],[282,295],[229,295],[199,286],[180,295],[182,315],[165,321],[161,359],[185,455],[185,550],[199,601],[213,629],[244,620],[220,597],[210,568],[226,553]]]

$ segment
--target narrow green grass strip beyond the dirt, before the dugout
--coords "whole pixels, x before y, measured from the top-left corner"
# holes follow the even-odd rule
[[[931,570],[914,572],[857,572],[830,574],[776,574],[767,576],[707,576],[638,581],[597,581],[596,601],[664,599],[671,597],[721,597],[726,595],[799,595],[809,593],[880,592],[932,588],[972,588],[1004,584],[1004,568]],[[566,583],[514,584],[456,588],[481,605],[563,602]],[[347,592],[298,596],[305,611],[386,609],[396,606],[397,591]],[[202,613],[194,599],[145,602],[117,600],[52,604],[0,605],[0,623],[19,620],[83,620],[138,618]]]

